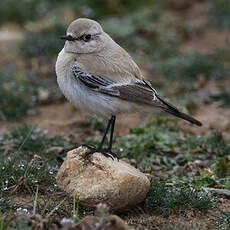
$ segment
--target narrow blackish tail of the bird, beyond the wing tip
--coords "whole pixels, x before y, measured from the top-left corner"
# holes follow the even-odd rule
[[[165,112],[170,113],[170,114],[172,114],[172,115],[174,115],[176,117],[182,118],[182,119],[184,119],[186,121],[189,121],[190,123],[195,124],[197,126],[202,126],[202,123],[200,121],[196,120],[195,118],[193,118],[193,117],[191,117],[191,116],[189,116],[189,115],[187,115],[185,113],[180,112],[176,107],[174,107],[170,103],[166,102],[165,100],[160,98],[158,95],[157,95],[157,98],[164,105],[162,107],[162,109]]]

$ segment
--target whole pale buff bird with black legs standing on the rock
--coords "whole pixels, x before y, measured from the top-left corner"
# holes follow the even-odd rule
[[[108,119],[100,144],[87,144],[86,157],[101,152],[117,158],[112,150],[116,116],[121,113],[169,113],[201,126],[195,118],[179,111],[163,99],[146,80],[132,57],[92,19],[70,23],[63,49],[56,61],[57,83],[64,96],[76,107]],[[104,147],[110,130],[108,146]]]

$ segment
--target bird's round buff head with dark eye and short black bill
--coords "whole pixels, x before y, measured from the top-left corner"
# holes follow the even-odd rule
[[[98,22],[79,18],[69,25],[66,35],[61,36],[61,39],[66,40],[66,52],[94,53],[105,47],[108,38]]]

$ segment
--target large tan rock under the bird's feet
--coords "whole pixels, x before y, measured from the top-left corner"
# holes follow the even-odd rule
[[[57,174],[57,184],[62,190],[71,197],[76,194],[79,203],[89,209],[102,202],[111,210],[120,211],[144,200],[150,185],[145,174],[101,153],[85,159],[87,150],[79,147],[67,153]]]

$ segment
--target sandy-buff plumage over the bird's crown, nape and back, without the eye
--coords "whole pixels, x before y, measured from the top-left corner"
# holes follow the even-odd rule
[[[88,47],[76,48],[74,43],[77,42],[66,41],[64,47],[65,54],[62,55],[62,58],[66,53],[72,53],[74,55],[69,55],[69,59],[73,61],[76,58],[76,61],[88,72],[100,76],[109,76],[121,82],[130,81],[130,78],[143,78],[140,69],[130,55],[114,42],[97,22],[90,19],[77,19],[69,25],[67,35],[79,37],[89,33],[89,30],[95,30],[96,33],[101,32],[101,35],[99,35],[101,39],[96,44],[93,44],[93,47],[96,48],[92,50]],[[71,46],[69,43],[72,43]],[[67,65],[63,63],[65,67]]]

